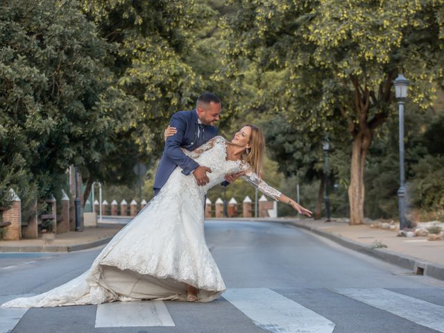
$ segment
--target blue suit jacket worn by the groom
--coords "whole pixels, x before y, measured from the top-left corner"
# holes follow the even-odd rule
[[[154,189],[161,189],[177,166],[183,169],[182,173],[185,175],[199,166],[196,161],[185,155],[180,147],[192,151],[217,135],[216,126],[207,125],[198,137],[196,110],[176,112],[171,117],[169,124],[176,127],[178,132],[172,137],[168,137],[165,142],[164,153],[155,173]]]

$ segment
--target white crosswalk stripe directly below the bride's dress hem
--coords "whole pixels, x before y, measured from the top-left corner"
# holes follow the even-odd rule
[[[95,327],[176,326],[162,300],[97,305]]]

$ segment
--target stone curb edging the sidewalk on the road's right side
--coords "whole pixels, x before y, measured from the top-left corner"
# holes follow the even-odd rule
[[[413,273],[416,273],[418,275],[427,275],[431,278],[444,280],[444,266],[441,266],[439,264],[435,264],[433,262],[427,262],[426,260],[418,259],[416,257],[411,257],[409,255],[394,253],[392,251],[385,249],[370,248],[370,246],[368,245],[358,243],[357,241],[352,241],[351,239],[342,237],[339,234],[332,234],[331,232],[319,230],[318,228],[310,227],[309,225],[298,223],[296,221],[274,220],[273,222],[289,224],[297,228],[309,230],[310,232],[313,232],[314,234],[318,234],[322,237],[330,239],[336,242],[337,244],[344,246],[345,248],[350,248],[351,250],[355,250],[359,253],[364,253],[365,255],[370,255],[377,259],[384,260],[384,262],[388,262],[390,264],[394,264],[396,266],[409,269]]]

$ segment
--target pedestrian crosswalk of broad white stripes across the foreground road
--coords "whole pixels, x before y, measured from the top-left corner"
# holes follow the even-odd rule
[[[293,297],[286,296],[287,290],[288,294]],[[368,316],[369,307],[372,307],[385,311],[388,316],[395,316],[393,318],[398,318],[399,321],[407,320],[413,323],[412,325],[418,325],[416,330],[409,332],[444,333],[444,302],[433,302],[433,300],[427,302],[404,295],[401,291],[382,288],[316,290],[320,298],[325,295],[325,300],[318,299],[318,303],[323,301],[328,303],[332,301],[332,297],[336,297],[343,298],[343,301],[350,302],[351,306],[356,307],[353,302],[358,301],[359,306],[362,307],[362,316]],[[171,332],[176,332],[176,329],[178,329],[177,332],[182,332],[180,325],[184,323],[184,319],[181,317],[183,312],[191,307],[201,307],[200,309],[213,307],[212,311],[226,311],[227,313],[238,311],[242,320],[250,321],[251,327],[255,325],[268,332],[337,332],[335,327],[338,323],[335,321],[338,320],[338,317],[330,316],[331,312],[328,311],[323,313],[320,307],[315,307],[307,300],[305,302],[302,302],[302,298],[298,300],[297,297],[294,297],[298,294],[298,289],[278,289],[278,291],[267,288],[228,289],[223,293],[223,298],[205,304],[162,302],[160,300],[104,303],[91,307],[91,309],[95,309],[95,321],[92,323],[91,329],[94,330],[98,327],[148,327],[145,331],[151,332],[149,327],[170,327]],[[443,293],[443,289],[436,288],[436,292]],[[6,302],[10,298],[12,297],[0,297],[0,303]],[[12,332],[17,323],[26,320],[26,317],[22,318],[26,311],[28,309],[0,309],[0,333]],[[91,314],[91,316],[93,315]],[[193,316],[198,315],[199,312],[194,312]],[[194,321],[196,318],[187,316],[185,320]],[[343,326],[343,323],[341,325]],[[246,331],[242,330],[242,332]]]

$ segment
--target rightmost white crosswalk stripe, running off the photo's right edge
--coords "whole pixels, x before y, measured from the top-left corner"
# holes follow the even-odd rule
[[[418,325],[444,332],[444,307],[440,305],[382,288],[341,288],[332,291],[388,311]]]

